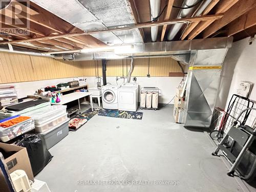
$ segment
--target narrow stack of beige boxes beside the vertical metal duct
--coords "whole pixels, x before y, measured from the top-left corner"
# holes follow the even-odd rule
[[[174,98],[174,119],[176,123],[183,122],[183,114],[184,114],[184,103],[185,97],[181,97],[181,92],[183,88],[177,88],[175,98]]]

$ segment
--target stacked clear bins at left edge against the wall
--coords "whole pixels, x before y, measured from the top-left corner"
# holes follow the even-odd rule
[[[14,86],[0,86],[0,106],[7,106],[18,102]]]

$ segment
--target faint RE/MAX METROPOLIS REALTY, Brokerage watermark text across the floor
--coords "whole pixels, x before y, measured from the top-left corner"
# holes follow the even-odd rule
[[[175,180],[77,180],[77,185],[179,185]]]

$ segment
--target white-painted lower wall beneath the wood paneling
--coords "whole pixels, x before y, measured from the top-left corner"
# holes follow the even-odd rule
[[[86,84],[89,87],[95,87],[97,78],[96,77],[74,77],[74,78],[62,78],[62,79],[50,79],[50,80],[40,80],[40,81],[29,81],[29,82],[17,82],[17,83],[7,83],[15,85],[18,98],[27,97],[27,95],[32,95],[37,89],[45,88],[47,86],[55,86],[60,82],[68,82],[72,80],[78,80],[79,78],[87,78]],[[179,86],[182,77],[137,77],[137,83],[140,87],[158,87],[160,89],[160,99],[159,103],[168,103],[176,93],[176,87]],[[127,79],[125,79],[126,82]],[[103,81],[101,80],[103,83]],[[116,82],[116,77],[107,77],[107,82],[111,84],[121,84],[123,79],[119,79]],[[132,82],[132,81],[131,81]],[[5,85],[5,84],[0,84]],[[173,102],[171,102],[173,103]]]

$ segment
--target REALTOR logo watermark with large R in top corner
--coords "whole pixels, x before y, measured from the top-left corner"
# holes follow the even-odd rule
[[[29,0],[0,0],[1,35],[29,35]]]

